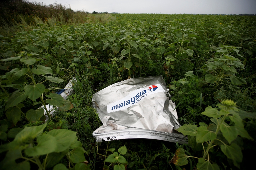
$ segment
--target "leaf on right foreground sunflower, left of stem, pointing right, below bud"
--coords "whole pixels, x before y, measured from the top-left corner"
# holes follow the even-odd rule
[[[216,139],[216,137],[217,135],[215,134],[215,132],[209,131],[205,126],[200,126],[197,129],[197,134],[196,134],[197,143],[203,143],[208,140],[214,140]]]

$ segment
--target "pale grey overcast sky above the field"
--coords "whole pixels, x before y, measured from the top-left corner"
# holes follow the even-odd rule
[[[256,14],[256,0],[28,0],[108,13]]]

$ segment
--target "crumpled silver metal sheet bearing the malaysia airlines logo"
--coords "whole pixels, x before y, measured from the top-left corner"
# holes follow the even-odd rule
[[[103,125],[93,132],[97,142],[149,138],[187,143],[175,104],[167,97],[162,76],[131,78],[93,94],[93,107]]]

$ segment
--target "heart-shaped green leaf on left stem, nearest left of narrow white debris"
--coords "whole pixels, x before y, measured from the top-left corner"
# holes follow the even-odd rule
[[[37,83],[36,85],[27,85],[24,87],[25,94],[28,96],[29,99],[31,100],[36,100],[39,98],[42,93],[44,93],[45,86],[41,83]]]

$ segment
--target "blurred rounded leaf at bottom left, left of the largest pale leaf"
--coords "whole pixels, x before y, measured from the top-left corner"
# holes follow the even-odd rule
[[[57,140],[51,135],[44,134],[39,136],[36,141],[37,145],[35,147],[25,149],[28,156],[45,155],[54,152],[57,148]]]

